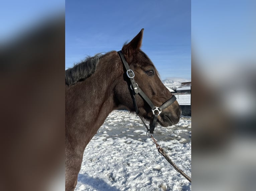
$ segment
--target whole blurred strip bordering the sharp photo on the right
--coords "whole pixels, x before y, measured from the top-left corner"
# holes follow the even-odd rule
[[[192,190],[255,190],[255,1],[191,2]]]

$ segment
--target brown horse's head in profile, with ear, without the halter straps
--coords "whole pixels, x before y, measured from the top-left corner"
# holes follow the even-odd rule
[[[125,44],[122,48],[122,53],[128,63],[130,69],[134,72],[134,79],[145,93],[145,95],[151,100],[155,106],[162,105],[165,101],[172,97],[170,91],[161,82],[158,72],[148,56],[141,51],[141,43],[143,36],[142,29],[131,42]],[[119,104],[128,107],[129,110],[135,111],[134,101],[131,94],[131,82],[126,75],[126,70],[123,67],[123,75],[118,81],[115,88],[115,97]],[[135,95],[139,115],[152,122],[154,113],[148,103],[138,94]],[[181,114],[181,109],[178,102],[175,100],[171,105],[166,107],[157,116],[157,121],[161,126],[167,127],[178,123]]]

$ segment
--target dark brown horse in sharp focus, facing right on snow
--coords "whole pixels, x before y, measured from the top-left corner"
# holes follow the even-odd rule
[[[179,121],[181,109],[176,100],[171,105],[165,104],[166,108],[161,111],[158,109],[158,113],[154,115],[142,96],[133,95],[132,78],[154,105],[161,105],[173,97],[161,82],[152,61],[140,49],[143,31],[144,29],[129,43],[125,43],[121,51],[133,73],[132,77],[128,76],[129,70],[126,70],[117,51],[87,57],[65,71],[66,191],[75,189],[84,150],[114,109],[125,107],[131,112],[137,110],[141,118],[150,122],[156,120],[163,127]]]

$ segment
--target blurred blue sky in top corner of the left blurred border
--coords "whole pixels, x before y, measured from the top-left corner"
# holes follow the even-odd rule
[[[8,0],[0,2],[0,44],[38,25],[45,18],[62,13],[63,0]]]

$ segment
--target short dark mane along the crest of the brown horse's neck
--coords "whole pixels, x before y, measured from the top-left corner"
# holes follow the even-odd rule
[[[86,57],[84,61],[75,64],[73,68],[65,71],[65,84],[70,86],[90,77],[95,71],[100,58],[103,55],[96,54],[93,57]]]

